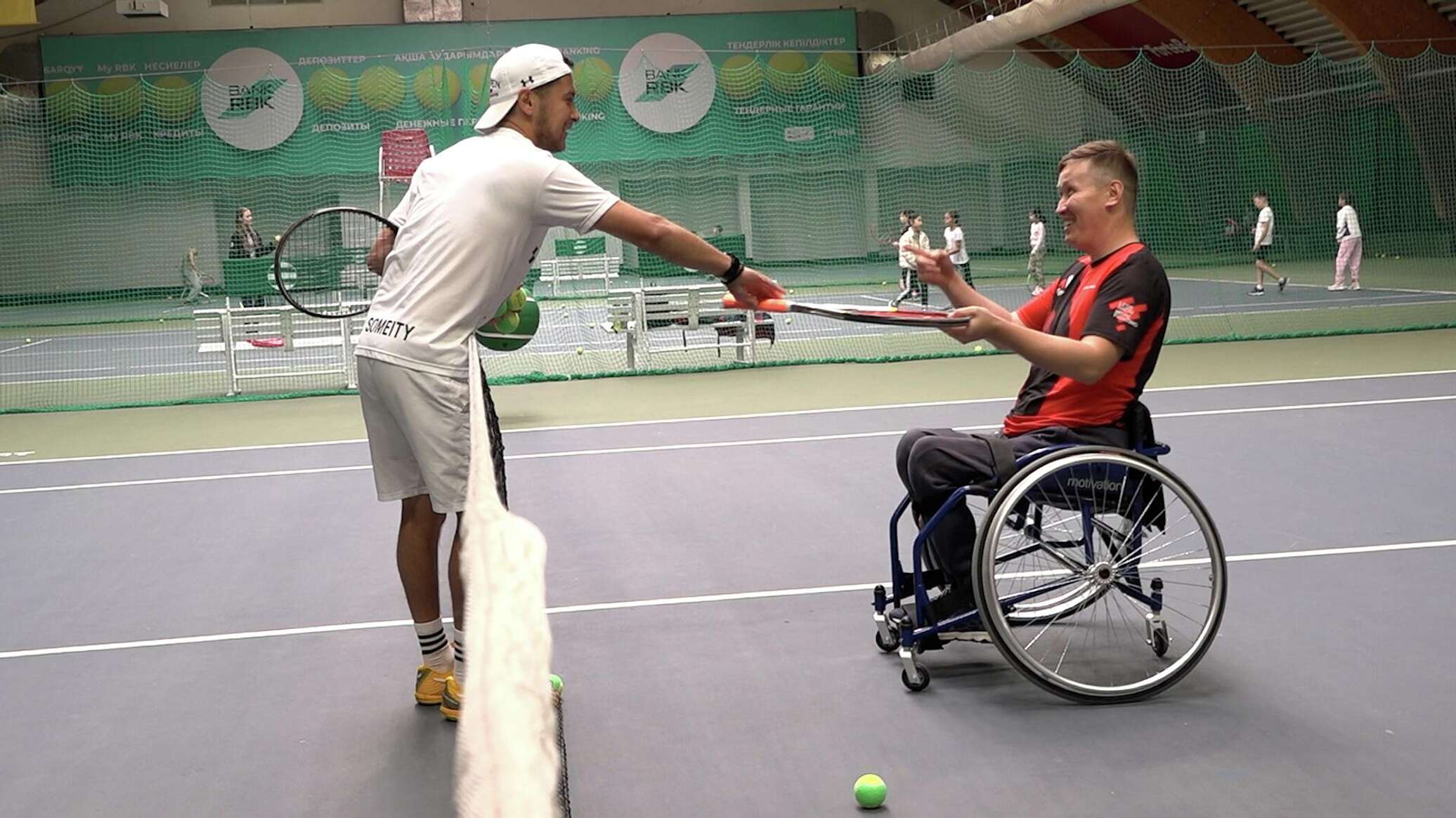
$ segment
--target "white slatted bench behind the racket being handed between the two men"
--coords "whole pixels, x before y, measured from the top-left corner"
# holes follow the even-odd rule
[[[607,320],[613,332],[626,333],[628,368],[635,370],[639,355],[681,352],[684,349],[734,349],[738,361],[756,360],[756,344],[775,339],[773,319],[767,313],[729,310],[722,306],[721,284],[684,284],[607,291]],[[750,329],[751,327],[751,329]],[[667,330],[671,344],[654,344]],[[712,342],[690,338],[697,330],[712,330]]]

